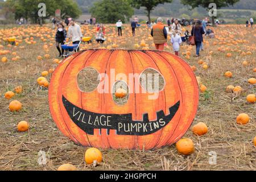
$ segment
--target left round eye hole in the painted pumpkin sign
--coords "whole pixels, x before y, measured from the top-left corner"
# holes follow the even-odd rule
[[[100,83],[100,73],[92,67],[82,69],[77,75],[77,86],[81,92],[93,92]]]

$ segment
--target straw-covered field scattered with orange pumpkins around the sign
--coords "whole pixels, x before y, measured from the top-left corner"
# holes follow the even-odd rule
[[[138,27],[134,37],[130,24],[123,27],[122,37],[114,24],[105,28],[106,41],[97,44],[96,28],[81,25],[82,35],[91,36],[92,43],[82,43],[80,50],[155,49],[146,25]],[[56,170],[68,163],[86,171],[255,171],[256,28],[238,24],[211,28],[216,37],[204,36],[200,57],[195,57],[194,46],[180,47],[179,56],[195,73],[200,93],[196,117],[184,140],[151,150],[97,147],[102,162],[96,165],[86,162],[90,147],[65,137],[50,113],[48,88],[63,60],[55,47],[56,30],[51,24],[0,27],[0,170]],[[190,32],[191,27],[185,30]],[[15,42],[6,43],[11,38]],[[164,51],[174,53],[170,36]],[[94,81],[88,79],[90,87]]]

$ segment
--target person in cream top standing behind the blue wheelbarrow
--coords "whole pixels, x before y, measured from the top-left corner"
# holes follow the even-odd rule
[[[71,19],[68,28],[68,38],[72,40],[73,44],[79,44],[82,39],[81,27],[73,19]],[[77,51],[79,51],[79,48],[77,48]]]

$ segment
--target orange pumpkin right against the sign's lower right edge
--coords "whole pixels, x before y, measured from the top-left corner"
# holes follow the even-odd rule
[[[176,143],[176,148],[183,155],[191,155],[195,151],[194,143],[190,138],[180,139]]]

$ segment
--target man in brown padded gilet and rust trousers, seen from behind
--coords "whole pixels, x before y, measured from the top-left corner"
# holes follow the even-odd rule
[[[164,44],[167,43],[167,31],[162,18],[159,17],[157,22],[151,30],[151,36],[154,39],[155,48],[163,51]]]

